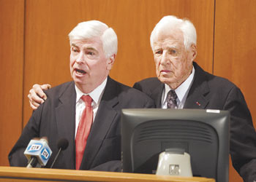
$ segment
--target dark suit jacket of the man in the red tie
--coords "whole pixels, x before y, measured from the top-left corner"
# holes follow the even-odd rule
[[[56,142],[67,138],[69,146],[62,151],[53,168],[75,169],[75,84],[67,82],[46,91],[48,99],[32,114],[18,142],[9,154],[10,165],[26,166],[23,151],[32,138],[46,136],[53,154],[50,167],[58,151]],[[121,168],[121,109],[152,108],[154,101],[134,88],[108,77],[86,144],[80,170],[118,171]]]

